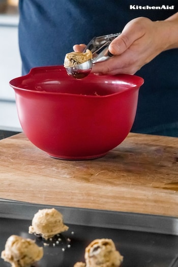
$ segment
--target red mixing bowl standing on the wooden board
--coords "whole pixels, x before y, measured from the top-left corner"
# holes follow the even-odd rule
[[[104,156],[127,137],[142,84],[126,74],[73,79],[63,66],[34,68],[10,81],[28,139],[71,160]]]

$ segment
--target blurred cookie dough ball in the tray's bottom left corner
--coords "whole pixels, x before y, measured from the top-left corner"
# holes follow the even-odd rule
[[[38,247],[34,240],[11,235],[1,257],[12,267],[29,267],[43,257],[43,248]]]

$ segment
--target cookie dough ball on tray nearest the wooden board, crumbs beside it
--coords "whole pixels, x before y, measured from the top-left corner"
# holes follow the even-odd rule
[[[69,227],[63,223],[63,215],[60,212],[55,209],[43,209],[34,215],[28,232],[41,235],[47,240],[68,229]]]

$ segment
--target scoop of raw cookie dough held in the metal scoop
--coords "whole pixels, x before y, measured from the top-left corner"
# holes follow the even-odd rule
[[[85,53],[80,52],[70,52],[67,53],[64,60],[64,67],[74,67],[78,64],[84,63],[92,59],[92,52],[86,49]]]

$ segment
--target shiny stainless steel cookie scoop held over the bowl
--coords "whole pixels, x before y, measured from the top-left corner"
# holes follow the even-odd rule
[[[118,35],[121,33],[117,34],[109,34],[109,35],[103,35],[99,37],[94,37],[90,43],[87,44],[85,47],[84,51],[86,49],[91,50],[93,54],[92,60],[88,60],[82,64],[75,65],[73,67],[66,67],[66,71],[68,75],[76,78],[76,79],[81,79],[86,77],[88,74],[90,74],[93,64],[98,63],[98,62],[103,62],[108,60],[111,56],[113,56],[109,50],[108,46],[114,40]],[[97,52],[100,52],[97,54]]]

